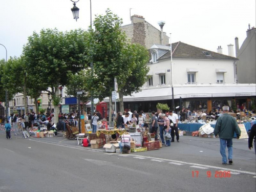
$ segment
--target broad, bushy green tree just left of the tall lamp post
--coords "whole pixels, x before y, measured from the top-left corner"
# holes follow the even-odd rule
[[[67,74],[77,73],[86,65],[86,41],[88,33],[78,29],[59,32],[57,29],[42,29],[33,32],[24,46],[23,54],[30,81],[41,91],[51,88],[55,113],[59,113],[59,86],[66,86]],[[57,121],[57,118],[56,118]]]

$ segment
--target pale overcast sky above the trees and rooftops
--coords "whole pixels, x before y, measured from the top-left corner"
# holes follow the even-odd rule
[[[172,42],[186,44],[217,52],[222,46],[227,54],[227,45],[239,38],[239,46],[246,38],[248,24],[255,27],[255,0],[91,0],[92,16],[104,14],[110,8],[130,24],[131,15],[142,15],[145,20],[160,29],[158,22],[165,21],[163,31]],[[90,25],[90,0],[80,0],[77,22],[72,17],[70,0],[1,0],[0,44],[10,56],[19,57],[23,46],[33,31],[42,28],[57,28],[59,31],[88,29]],[[0,59],[6,51],[0,45]]]

